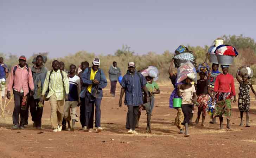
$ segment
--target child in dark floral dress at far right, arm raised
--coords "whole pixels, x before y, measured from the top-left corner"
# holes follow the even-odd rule
[[[243,126],[243,113],[246,112],[246,127],[250,127],[249,125],[249,116],[250,116],[250,88],[254,95],[256,96],[256,92],[250,83],[250,77],[248,74],[242,75],[242,80],[238,77],[239,72],[245,66],[239,67],[236,73],[236,79],[239,82],[239,94],[238,94],[238,109],[240,111],[241,122],[239,126]]]

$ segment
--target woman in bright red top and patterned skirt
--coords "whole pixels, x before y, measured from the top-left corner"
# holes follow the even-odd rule
[[[231,98],[234,97],[233,102],[236,102],[235,84],[233,76],[228,73],[229,65],[221,65],[221,68],[223,73],[217,76],[214,85],[213,96],[216,101],[214,115],[219,117],[220,129],[223,129],[223,115],[227,119],[227,128],[230,129]]]

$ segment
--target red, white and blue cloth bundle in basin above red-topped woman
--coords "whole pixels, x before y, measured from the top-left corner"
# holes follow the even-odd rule
[[[229,55],[229,56],[237,56],[238,52],[236,48],[229,45],[219,45],[215,50],[216,55]]]

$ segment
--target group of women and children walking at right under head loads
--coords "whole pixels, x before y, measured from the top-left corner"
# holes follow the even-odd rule
[[[172,84],[175,88],[174,92],[177,96],[182,98],[181,108],[178,110],[177,117],[175,118],[175,125],[180,130],[180,133],[184,133],[185,126],[185,137],[189,137],[188,125],[192,124],[194,106],[198,107],[197,118],[195,123],[198,124],[200,115],[202,113],[201,126],[205,126],[206,110],[213,109],[211,114],[211,124],[216,124],[216,117],[219,117],[220,129],[223,129],[223,118],[226,118],[227,129],[230,129],[231,119],[231,102],[237,101],[234,78],[228,73],[229,65],[221,65],[222,73],[218,71],[219,64],[212,64],[212,70],[210,76],[208,72],[199,72],[200,79],[195,84],[190,78],[186,78],[183,83],[177,83],[177,74],[173,73],[173,62],[169,67],[169,75]],[[204,63],[205,65],[205,63]],[[206,66],[206,65],[205,65]],[[206,66],[207,67],[207,66]],[[206,68],[205,67],[205,68]],[[243,68],[242,66],[239,68]],[[250,83],[250,77],[248,75],[239,77],[239,71],[236,74],[237,81],[239,83],[239,98],[238,98],[238,109],[241,114],[241,123],[239,126],[243,126],[243,112],[247,113],[246,127],[249,125],[249,111],[250,111],[250,95],[249,90],[256,96],[256,92]]]

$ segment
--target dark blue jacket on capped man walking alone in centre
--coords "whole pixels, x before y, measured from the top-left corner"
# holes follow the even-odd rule
[[[124,104],[129,106],[139,106],[143,104],[142,87],[147,84],[145,77],[135,71],[129,71],[123,76],[121,86],[125,88]]]

